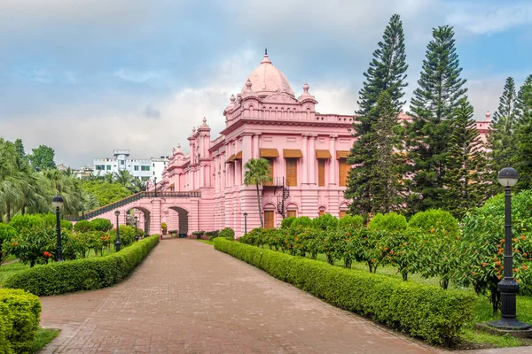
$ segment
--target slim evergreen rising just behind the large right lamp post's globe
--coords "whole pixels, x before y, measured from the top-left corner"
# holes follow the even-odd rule
[[[506,79],[503,95],[499,99],[497,112],[489,126],[489,168],[491,170],[492,188],[495,193],[500,191],[497,173],[509,165],[516,153],[515,124],[517,120],[517,95],[512,77]]]

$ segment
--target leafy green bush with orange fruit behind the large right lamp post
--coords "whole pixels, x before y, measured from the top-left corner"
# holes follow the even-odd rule
[[[532,294],[532,190],[512,196],[513,275],[520,293]],[[488,293],[493,311],[500,308],[497,283],[503,278],[505,253],[505,196],[489,199],[465,214],[458,246],[455,280]]]

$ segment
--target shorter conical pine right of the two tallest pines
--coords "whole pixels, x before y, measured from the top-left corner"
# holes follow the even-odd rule
[[[463,97],[450,124],[447,172],[443,178],[448,211],[461,217],[486,199],[486,158],[473,120],[473,106]]]

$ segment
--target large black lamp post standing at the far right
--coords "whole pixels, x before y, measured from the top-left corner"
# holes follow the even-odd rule
[[[520,322],[516,315],[515,296],[519,284],[513,279],[512,253],[512,186],[517,183],[519,174],[512,167],[505,167],[498,173],[499,183],[505,187],[505,277],[497,288],[501,293],[501,319],[488,322],[489,326],[506,330],[529,329],[528,323]]]

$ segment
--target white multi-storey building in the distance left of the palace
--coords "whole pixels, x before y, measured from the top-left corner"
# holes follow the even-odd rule
[[[162,180],[162,171],[168,164],[168,158],[130,159],[129,150],[113,150],[113,158],[98,158],[93,160],[95,175],[118,173],[127,170],[141,181]]]

